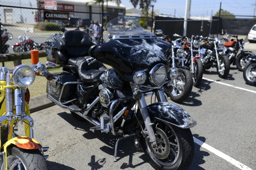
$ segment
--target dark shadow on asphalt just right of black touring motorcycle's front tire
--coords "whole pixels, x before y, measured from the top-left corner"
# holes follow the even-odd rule
[[[205,142],[206,138],[205,137],[202,137],[202,136],[199,136],[197,134],[194,134],[193,137],[201,140],[202,142]],[[205,170],[204,168],[202,168],[201,164],[204,164],[205,163],[205,160],[204,160],[204,157],[205,156],[210,156],[210,153],[206,152],[206,151],[202,151],[200,150],[200,145],[196,144],[195,143],[195,154],[194,154],[194,159],[193,159],[193,162],[192,164],[190,165],[189,167],[189,170]]]

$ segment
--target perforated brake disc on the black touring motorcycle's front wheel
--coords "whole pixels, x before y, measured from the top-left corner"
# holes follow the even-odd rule
[[[167,135],[159,128],[155,128],[157,145],[155,148],[151,146],[148,138],[148,146],[151,152],[155,155],[156,158],[165,159],[170,154],[170,143]]]

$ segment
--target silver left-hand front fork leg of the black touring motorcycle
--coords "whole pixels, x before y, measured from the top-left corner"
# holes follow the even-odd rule
[[[149,113],[148,113],[148,108],[147,108],[147,103],[146,100],[144,98],[144,95],[142,94],[141,99],[138,100],[138,107],[140,109],[143,121],[145,123],[147,132],[148,132],[148,136],[150,138],[150,142],[151,145],[154,147],[156,146],[156,137],[155,137],[155,132],[153,129],[153,125],[154,123],[151,122],[150,117],[149,117]]]

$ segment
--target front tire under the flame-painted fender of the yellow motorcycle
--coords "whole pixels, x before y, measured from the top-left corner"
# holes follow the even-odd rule
[[[46,160],[39,149],[21,149],[12,145],[7,149],[7,153],[8,169],[13,169],[11,167],[17,166],[18,163],[21,163],[21,166],[25,166],[27,170],[48,169]]]

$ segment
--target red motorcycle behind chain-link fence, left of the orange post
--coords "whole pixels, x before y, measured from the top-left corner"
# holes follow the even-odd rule
[[[23,37],[19,36],[19,42],[15,43],[13,46],[11,46],[13,48],[14,52],[27,52],[30,50],[44,50],[45,46],[46,46],[46,42],[42,43],[42,44],[38,44],[36,42],[34,42],[31,38],[29,38],[26,33],[29,30],[25,31],[25,35]]]

